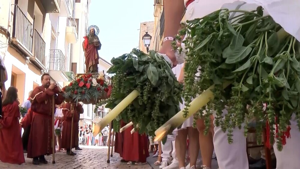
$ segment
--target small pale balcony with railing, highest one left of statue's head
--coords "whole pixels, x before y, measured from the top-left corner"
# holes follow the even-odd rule
[[[66,41],[69,44],[75,44],[78,41],[77,23],[76,23],[76,19],[72,17],[67,18]]]

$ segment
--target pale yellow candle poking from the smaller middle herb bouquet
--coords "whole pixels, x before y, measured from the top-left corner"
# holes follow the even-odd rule
[[[115,119],[132,101],[134,101],[138,95],[140,95],[139,91],[132,91],[115,108],[113,108],[113,110],[111,110],[103,119],[101,119],[101,121],[95,125],[94,136],[99,134],[107,124],[113,121],[113,119]]]

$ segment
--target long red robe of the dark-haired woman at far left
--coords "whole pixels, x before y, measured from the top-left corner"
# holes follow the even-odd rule
[[[11,164],[25,163],[23,154],[21,130],[20,130],[20,110],[17,101],[2,108],[2,119],[0,124],[0,160]]]

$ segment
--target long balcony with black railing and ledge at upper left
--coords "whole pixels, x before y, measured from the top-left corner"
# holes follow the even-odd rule
[[[14,5],[11,47],[29,58],[40,70],[46,70],[46,43],[18,5]]]

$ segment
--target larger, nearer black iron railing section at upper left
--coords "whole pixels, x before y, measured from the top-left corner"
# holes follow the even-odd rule
[[[32,51],[33,24],[18,5],[14,4],[12,38],[16,38],[27,50]]]

